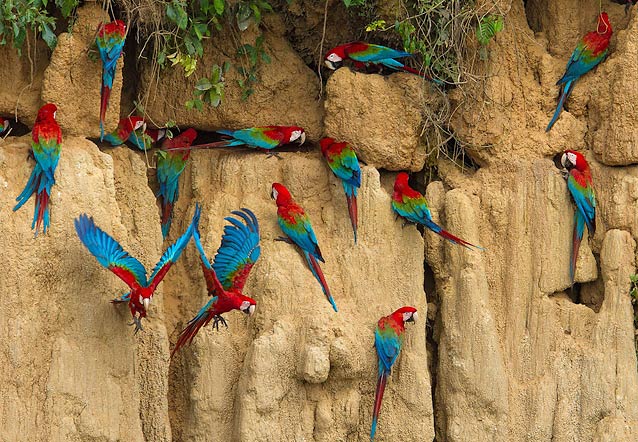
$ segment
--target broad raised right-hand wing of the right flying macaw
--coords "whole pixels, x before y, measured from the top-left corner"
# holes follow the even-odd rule
[[[231,212],[237,218],[226,217],[230,225],[224,227],[222,244],[217,249],[213,269],[224,289],[242,291],[261,248],[259,247],[259,224],[255,214],[246,208]]]

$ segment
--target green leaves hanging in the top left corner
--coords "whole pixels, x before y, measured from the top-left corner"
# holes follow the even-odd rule
[[[53,32],[56,19],[51,14],[57,9],[63,18],[69,18],[80,0],[2,0],[0,2],[0,46],[7,44],[9,37],[13,46],[21,52],[31,31],[42,37],[53,49],[57,37]]]

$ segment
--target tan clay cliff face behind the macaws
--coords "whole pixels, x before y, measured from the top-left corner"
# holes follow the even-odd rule
[[[105,10],[83,2],[71,32],[56,28],[52,51],[32,33],[22,56],[0,46],[0,116],[11,126],[0,140],[0,440],[369,440],[375,327],[402,306],[416,308],[420,320],[406,326],[375,440],[638,440],[634,7],[477,1],[477,16],[501,16],[502,30],[471,58],[465,79],[474,80],[439,85],[410,73],[355,71],[351,63],[323,69],[320,79],[320,48],[368,37],[366,17],[342,1],[272,2],[259,25],[204,39],[188,77],[193,66],[160,71],[139,56],[159,2],[107,3]],[[403,2],[377,3],[391,26]],[[601,10],[614,31],[609,55],[577,81],[546,132],[556,81]],[[106,132],[136,111],[147,128],[172,122],[175,135],[194,128],[196,144],[218,142],[220,129],[273,124],[303,128],[306,142],[283,149],[280,159],[235,147],[190,152],[163,238],[157,149],[100,141],[102,63],[91,46],[100,23],[114,18],[128,34]],[[187,108],[198,85],[210,90],[198,82],[214,65],[250,59],[237,48],[254,49],[257,36],[270,63],[258,64],[247,99],[237,82],[243,74],[231,68],[221,105]],[[478,54],[478,45],[472,36],[464,49]],[[63,141],[51,224],[34,238],[33,200],[12,208],[34,169],[31,129],[45,103],[57,106]],[[442,113],[444,128],[432,117]],[[321,153],[325,136],[347,141],[361,161],[356,245],[344,188]],[[560,171],[567,149],[584,154],[597,202],[574,290],[576,206]],[[434,222],[485,250],[395,219],[401,171],[425,193]],[[282,230],[274,182],[312,221],[338,312],[304,255],[275,241]],[[210,299],[189,227],[196,203],[209,259],[231,211],[249,208],[258,219],[261,256],[243,287],[256,308],[225,314],[228,328],[211,322],[171,358],[180,332]],[[129,308],[109,302],[126,285],[76,233],[82,213],[148,270],[190,231],[136,334]]]

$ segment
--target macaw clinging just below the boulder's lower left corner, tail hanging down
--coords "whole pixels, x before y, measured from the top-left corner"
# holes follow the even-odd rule
[[[348,202],[348,213],[350,214],[350,222],[352,231],[354,232],[354,242],[357,242],[357,191],[361,187],[361,168],[357,154],[352,147],[345,142],[337,143],[332,138],[323,138],[319,144],[321,145],[321,153],[328,161],[328,166],[337,178],[343,184],[343,190],[346,193],[346,201]]]

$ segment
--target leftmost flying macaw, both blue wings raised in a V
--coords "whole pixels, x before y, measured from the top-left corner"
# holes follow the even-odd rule
[[[146,279],[144,266],[130,256],[115,239],[97,227],[93,218],[89,218],[87,214],[81,214],[75,220],[75,231],[80,241],[103,267],[112,271],[131,289],[130,292],[111,302],[128,302],[131,315],[133,315],[133,324],[131,325],[135,325],[135,333],[142,330],[142,318],[146,317],[146,311],[153,300],[155,289],[171,266],[179,259],[193,232],[197,229],[200,213],[199,205],[196,205],[188,229],[166,249],[148,279]]]

